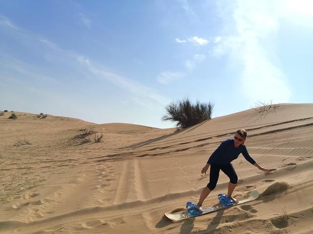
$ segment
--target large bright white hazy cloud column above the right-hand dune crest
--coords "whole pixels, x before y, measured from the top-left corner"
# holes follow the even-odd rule
[[[291,95],[286,75],[276,65],[262,44],[264,38],[274,40],[280,28],[279,9],[265,1],[241,1],[234,4],[232,19],[236,31],[216,41],[213,54],[229,55],[233,67],[242,69],[241,85],[252,103],[264,97],[287,102]],[[226,17],[226,16],[225,16]],[[225,21],[228,21],[229,16]]]

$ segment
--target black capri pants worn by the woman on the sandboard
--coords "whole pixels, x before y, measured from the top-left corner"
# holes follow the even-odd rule
[[[237,184],[238,176],[231,163],[227,165],[211,164],[210,182],[206,185],[206,187],[208,187],[210,190],[215,189],[220,176],[220,170],[222,170],[226,176],[229,177],[230,183]]]

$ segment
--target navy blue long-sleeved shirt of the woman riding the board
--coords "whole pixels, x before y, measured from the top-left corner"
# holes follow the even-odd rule
[[[229,164],[232,160],[238,158],[240,154],[243,154],[246,160],[251,164],[255,163],[254,159],[249,156],[246,146],[240,145],[238,148],[235,148],[234,139],[227,139],[223,141],[221,145],[213,152],[207,163],[226,165]]]

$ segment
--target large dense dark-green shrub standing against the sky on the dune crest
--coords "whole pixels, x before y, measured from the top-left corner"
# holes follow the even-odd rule
[[[163,121],[176,122],[179,128],[187,128],[204,120],[211,119],[214,104],[212,102],[195,104],[188,98],[177,102],[171,102],[166,108],[167,115],[162,117]]]

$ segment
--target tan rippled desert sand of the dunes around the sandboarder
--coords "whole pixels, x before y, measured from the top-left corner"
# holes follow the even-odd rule
[[[262,117],[249,109],[180,131],[14,113],[0,116],[1,234],[313,234],[313,104],[280,104]],[[101,142],[74,138],[90,126]],[[234,197],[261,197],[179,222],[164,217],[198,201],[209,179],[202,167],[239,128],[271,173],[240,155]],[[24,139],[30,144],[16,146]],[[203,206],[227,183],[221,173]]]

